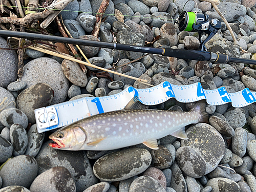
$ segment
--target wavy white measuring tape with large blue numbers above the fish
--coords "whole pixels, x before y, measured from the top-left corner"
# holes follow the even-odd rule
[[[224,87],[215,90],[204,90],[200,82],[176,86],[165,81],[152,88],[135,89],[128,87],[115,95],[84,97],[36,109],[37,130],[42,133],[92,115],[124,109],[126,104],[135,96],[138,96],[140,102],[145,105],[160,104],[170,98],[176,98],[176,100],[183,103],[206,99],[206,102],[210,105],[232,102],[234,108],[241,108],[256,102],[256,92],[251,92],[248,88],[236,93],[227,93]]]

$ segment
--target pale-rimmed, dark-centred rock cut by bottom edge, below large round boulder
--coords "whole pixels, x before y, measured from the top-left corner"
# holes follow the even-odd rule
[[[222,177],[217,177],[210,179],[206,186],[211,186],[212,191],[233,191],[233,192],[239,192],[240,191],[240,186],[227,178],[222,178]]]

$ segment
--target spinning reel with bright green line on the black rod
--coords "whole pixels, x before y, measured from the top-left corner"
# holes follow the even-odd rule
[[[205,43],[210,40],[221,28],[221,22],[217,19],[209,19],[205,13],[195,13],[183,11],[179,18],[176,19],[180,31],[198,32],[199,40],[201,42],[199,51],[208,51]],[[208,36],[202,41],[202,34]]]

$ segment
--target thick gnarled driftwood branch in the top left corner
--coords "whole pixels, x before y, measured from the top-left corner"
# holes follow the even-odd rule
[[[54,9],[63,10],[72,0],[59,0],[57,1],[57,5],[54,6]],[[59,3],[61,2],[61,3]],[[46,18],[48,15],[55,13],[53,9],[46,9],[40,13],[31,13],[26,15],[24,18],[18,18],[16,15],[12,15],[10,17],[0,17],[0,23],[10,23],[15,25],[21,25],[25,27],[29,27],[30,24],[35,19]]]

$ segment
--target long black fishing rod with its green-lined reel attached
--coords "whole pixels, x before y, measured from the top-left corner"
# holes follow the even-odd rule
[[[0,30],[0,36],[27,38],[33,40],[47,40],[53,42],[62,42],[65,44],[83,45],[143,53],[153,53],[168,57],[177,57],[189,60],[206,60],[218,63],[241,62],[256,65],[256,60],[230,57],[224,54],[208,52],[204,44],[205,42],[210,40],[221,28],[221,22],[219,20],[209,19],[209,16],[205,13],[183,11],[180,14],[179,18],[176,19],[176,23],[178,24],[178,28],[180,31],[198,32],[199,40],[201,42],[199,50],[196,51],[172,48],[152,48],[145,46],[124,45],[112,42],[84,40],[78,38],[59,37],[53,35],[43,35],[8,30]],[[208,36],[204,40],[202,40],[202,34],[207,34]]]

